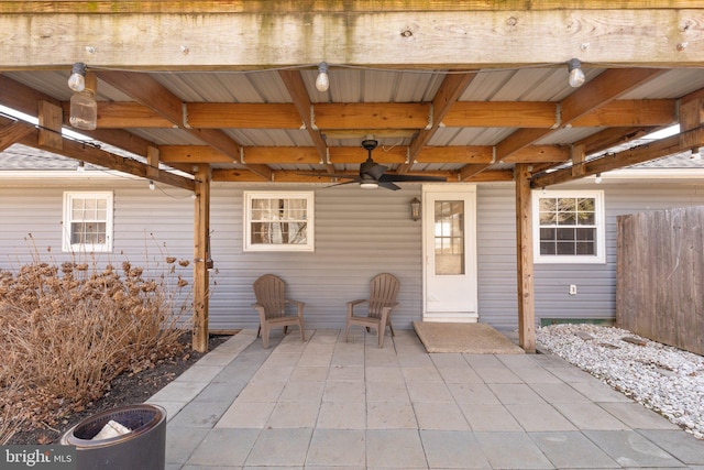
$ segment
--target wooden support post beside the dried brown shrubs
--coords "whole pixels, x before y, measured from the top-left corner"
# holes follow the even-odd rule
[[[196,201],[194,206],[194,329],[193,349],[208,351],[208,251],[210,237],[210,165],[200,165],[196,172]]]

